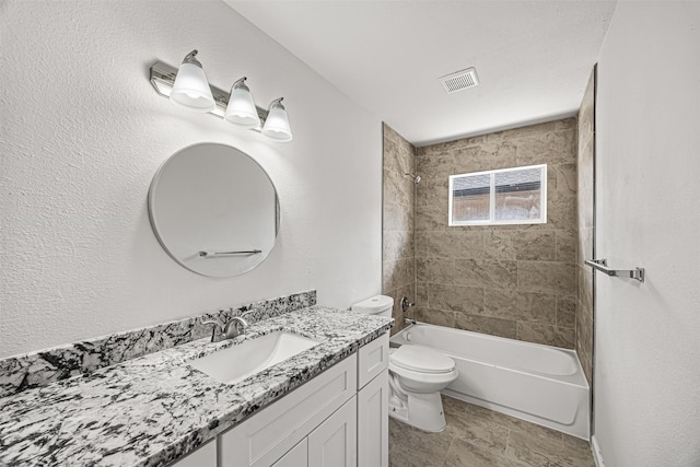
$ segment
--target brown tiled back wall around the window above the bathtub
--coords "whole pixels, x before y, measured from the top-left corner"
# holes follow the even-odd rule
[[[548,164],[547,223],[447,226],[448,176]],[[573,348],[576,307],[576,120],[425,148],[416,199],[420,320]]]

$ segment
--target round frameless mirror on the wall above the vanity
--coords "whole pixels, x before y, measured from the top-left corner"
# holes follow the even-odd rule
[[[176,152],[149,190],[159,242],[173,259],[202,276],[237,276],[262,262],[275,247],[279,212],[267,173],[225,144]]]

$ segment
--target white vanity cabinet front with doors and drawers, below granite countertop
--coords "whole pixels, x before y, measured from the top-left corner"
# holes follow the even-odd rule
[[[217,444],[219,467],[387,467],[388,332]]]

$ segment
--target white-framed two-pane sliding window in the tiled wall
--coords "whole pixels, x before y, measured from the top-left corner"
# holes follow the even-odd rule
[[[546,222],[547,164],[450,176],[450,225]]]

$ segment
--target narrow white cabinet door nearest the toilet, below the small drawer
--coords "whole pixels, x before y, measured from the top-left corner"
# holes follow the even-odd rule
[[[358,393],[358,465],[389,465],[389,373],[384,371]]]

